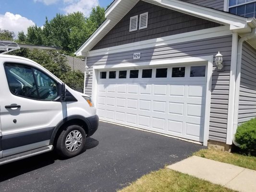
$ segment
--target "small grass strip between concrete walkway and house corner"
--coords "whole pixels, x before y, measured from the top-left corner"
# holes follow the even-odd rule
[[[240,154],[219,151],[213,148],[201,149],[200,151],[195,152],[193,155],[256,170],[256,156],[244,156]]]

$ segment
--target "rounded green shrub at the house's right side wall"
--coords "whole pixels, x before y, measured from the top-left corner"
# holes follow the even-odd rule
[[[235,141],[244,153],[256,155],[256,118],[238,126]]]

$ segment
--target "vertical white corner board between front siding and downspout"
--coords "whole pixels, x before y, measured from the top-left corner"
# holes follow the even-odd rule
[[[227,123],[227,138],[226,144],[232,144],[233,139],[233,123],[235,111],[235,92],[236,92],[236,66],[237,66],[237,46],[238,34],[232,35],[232,51],[231,51],[231,69],[230,69],[230,84],[229,84],[229,104],[228,104],[228,123]],[[225,62],[225,61],[224,61]]]

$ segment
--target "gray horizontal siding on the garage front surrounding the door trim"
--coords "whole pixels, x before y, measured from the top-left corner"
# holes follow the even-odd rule
[[[218,72],[214,64],[212,73],[209,139],[226,142],[231,48],[232,36],[222,36],[156,48],[146,48],[110,55],[89,57],[87,58],[87,65],[90,67],[92,72],[93,65],[113,65],[134,62],[132,55],[137,51],[141,52],[140,62],[181,58],[186,56],[198,57],[216,55],[216,53],[220,51],[224,56],[225,71]],[[85,93],[91,95],[92,76],[86,79],[85,84]]]

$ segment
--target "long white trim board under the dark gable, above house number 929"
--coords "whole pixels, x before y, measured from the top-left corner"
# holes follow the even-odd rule
[[[155,39],[149,39],[145,41],[139,41],[135,43],[129,43],[125,45],[102,48],[98,50],[92,50],[87,53],[88,57],[94,57],[98,55],[107,55],[112,53],[119,53],[124,51],[131,51],[134,49],[152,48],[158,46],[171,45],[174,43],[183,43],[187,41],[194,41],[218,36],[232,35],[232,31],[229,30],[228,26],[219,26],[210,29],[203,29],[198,31],[192,31],[183,34],[177,34],[173,36],[164,36]]]

